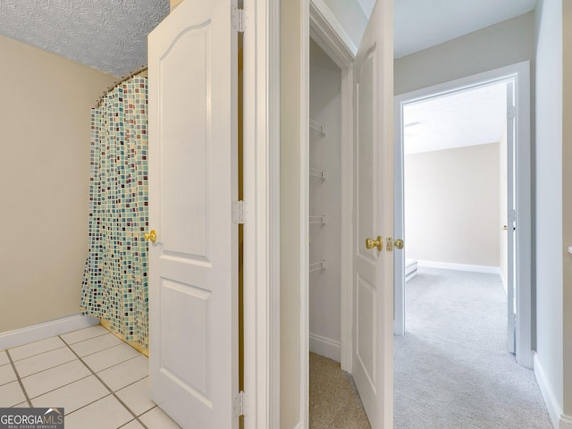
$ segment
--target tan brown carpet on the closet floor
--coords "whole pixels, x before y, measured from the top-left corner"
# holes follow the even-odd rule
[[[310,353],[310,429],[371,429],[351,375]]]

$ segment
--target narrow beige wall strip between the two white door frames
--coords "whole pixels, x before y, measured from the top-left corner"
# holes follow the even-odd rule
[[[301,170],[300,105],[301,102],[301,1],[281,2],[281,148],[280,148],[280,265],[281,265],[281,425],[290,429],[300,421],[301,375],[301,297],[300,279],[307,276],[300,248]],[[304,172],[307,174],[307,170]],[[307,218],[304,219],[307,223]],[[307,246],[307,242],[304,243]]]

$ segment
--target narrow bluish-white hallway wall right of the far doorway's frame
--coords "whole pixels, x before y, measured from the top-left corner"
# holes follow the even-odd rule
[[[561,12],[562,0],[536,6],[536,356],[556,414],[562,411],[564,387]]]

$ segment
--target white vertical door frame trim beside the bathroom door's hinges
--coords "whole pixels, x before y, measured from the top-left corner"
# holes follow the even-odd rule
[[[280,427],[280,2],[244,0],[244,391],[247,429]]]

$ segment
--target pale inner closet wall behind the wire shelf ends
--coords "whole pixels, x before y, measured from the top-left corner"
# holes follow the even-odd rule
[[[310,351],[340,361],[341,356],[341,70],[310,41],[310,118],[325,125],[322,138],[310,131],[310,166],[327,180],[310,178],[310,214],[327,224],[310,224],[310,264],[326,269],[309,274]]]

